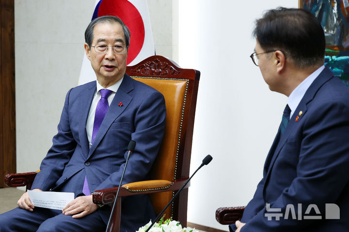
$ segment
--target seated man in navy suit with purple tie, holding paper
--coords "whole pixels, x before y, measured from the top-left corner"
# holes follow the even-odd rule
[[[158,154],[165,101],[157,90],[125,73],[129,30],[118,17],[102,16],[89,24],[85,41],[97,81],[68,91],[58,133],[32,185],[35,191],[74,192],[75,199],[63,211],[51,210],[34,208],[24,193],[18,208],[0,215],[1,232],[103,231],[110,207],[99,208],[91,193],[119,185],[130,140],[137,144],[123,183],[145,180]],[[96,129],[100,101],[106,113]],[[135,231],[155,217],[146,195],[126,197],[122,205],[123,232]]]

